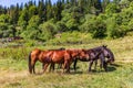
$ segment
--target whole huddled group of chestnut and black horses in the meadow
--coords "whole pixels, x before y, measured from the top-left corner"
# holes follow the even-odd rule
[[[34,66],[37,61],[42,63],[43,73],[47,70],[50,65],[50,70],[54,70],[54,65],[61,65],[62,73],[70,73],[70,65],[73,63],[73,68],[76,70],[76,62],[89,62],[89,72],[91,72],[91,67],[93,62],[95,62],[95,67],[98,64],[98,59],[101,61],[100,66],[104,68],[106,72],[106,67],[109,63],[114,62],[114,55],[110,48],[105,45],[90,48],[90,50],[48,50],[42,51],[35,48],[31,51],[29,54],[29,73],[35,74]]]

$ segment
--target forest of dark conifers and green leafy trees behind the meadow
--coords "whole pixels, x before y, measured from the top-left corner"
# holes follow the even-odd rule
[[[116,38],[133,31],[132,0],[51,0],[0,6],[0,37],[48,41],[79,31],[93,38]]]

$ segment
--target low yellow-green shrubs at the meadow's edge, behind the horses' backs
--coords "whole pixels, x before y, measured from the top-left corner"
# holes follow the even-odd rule
[[[81,33],[78,31],[63,32],[60,37],[52,38],[47,42],[48,45],[66,45],[66,44],[82,44],[90,43],[92,40],[90,33]]]

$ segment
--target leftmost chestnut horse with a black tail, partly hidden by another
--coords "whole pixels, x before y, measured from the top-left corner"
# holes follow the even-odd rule
[[[29,54],[29,63],[28,63],[28,66],[29,66],[29,73],[30,74],[35,74],[35,70],[34,70],[34,65],[37,63],[37,61],[40,61],[41,63],[43,64],[47,64],[44,66],[44,70],[47,69],[48,65],[51,63],[51,56],[52,56],[52,53],[53,52],[50,52],[50,51],[41,51],[39,48],[35,48],[33,50],[30,54]],[[44,72],[43,70],[43,72]]]

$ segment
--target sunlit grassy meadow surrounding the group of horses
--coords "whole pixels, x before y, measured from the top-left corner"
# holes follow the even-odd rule
[[[105,73],[98,67],[88,73],[88,63],[78,63],[78,72],[71,74],[47,72],[43,75],[30,75],[28,72],[28,54],[34,47],[0,50],[0,88],[133,88],[133,36],[117,40],[90,40],[89,44],[38,46],[39,48],[91,48],[108,45],[115,55],[115,63],[109,65]],[[41,63],[37,63],[41,73]]]

